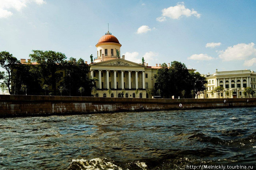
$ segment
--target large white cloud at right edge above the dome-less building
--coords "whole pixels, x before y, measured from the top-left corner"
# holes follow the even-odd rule
[[[256,57],[256,49],[254,43],[237,44],[233,47],[227,47],[225,51],[219,51],[219,58],[224,61],[243,60],[249,57]]]

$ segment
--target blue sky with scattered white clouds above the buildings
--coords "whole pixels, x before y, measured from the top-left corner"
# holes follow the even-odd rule
[[[133,62],[180,61],[202,74],[256,71],[256,1],[0,0],[0,51],[53,50],[90,61],[112,32]]]

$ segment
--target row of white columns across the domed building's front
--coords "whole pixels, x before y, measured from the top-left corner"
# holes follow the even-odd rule
[[[94,71],[96,70],[91,70],[91,78],[94,77]],[[106,71],[106,85],[107,85],[107,89],[109,89],[109,72],[113,71],[114,72],[114,89],[117,89],[117,72],[121,71],[121,88],[124,89],[124,70],[103,70]],[[145,72],[144,71],[128,71],[128,88],[131,89],[132,88],[132,78],[131,78],[131,72],[135,72],[135,88],[138,89],[139,88],[139,84],[138,84],[138,72],[142,72],[142,89],[145,89]],[[99,89],[102,89],[102,85],[101,85],[101,73],[102,70],[98,70],[99,76]]]

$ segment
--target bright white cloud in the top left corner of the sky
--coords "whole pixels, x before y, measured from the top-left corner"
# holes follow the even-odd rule
[[[27,6],[26,4],[31,2],[35,2],[38,5],[46,3],[44,0],[1,0],[0,18],[7,18],[13,15],[10,9],[20,12],[22,8]]]

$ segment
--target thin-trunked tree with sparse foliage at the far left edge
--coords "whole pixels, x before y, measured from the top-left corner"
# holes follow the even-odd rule
[[[10,54],[9,52],[7,51],[0,52],[0,66],[6,70],[7,75],[4,76],[4,82],[7,85],[7,88],[10,94],[12,94],[11,88],[10,88],[11,71],[12,71],[12,67],[17,63],[20,63],[20,62],[17,60],[16,57],[13,57],[12,54]],[[3,74],[3,72],[1,74]]]

